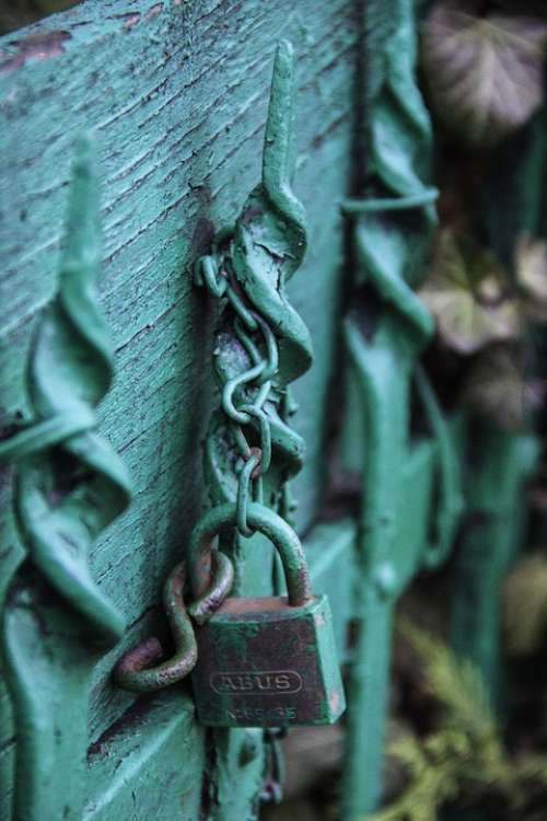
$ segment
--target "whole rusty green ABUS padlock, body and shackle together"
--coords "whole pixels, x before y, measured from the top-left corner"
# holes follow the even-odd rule
[[[346,707],[330,606],[314,597],[302,545],[269,508],[248,505],[247,522],[277,548],[288,597],[207,600],[214,537],[235,524],[235,505],[212,508],[191,535],[188,570],[198,663],[191,678],[198,719],[211,727],[333,724]],[[206,621],[207,618],[207,621]]]

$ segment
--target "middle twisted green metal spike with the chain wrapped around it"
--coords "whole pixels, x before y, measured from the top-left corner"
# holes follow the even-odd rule
[[[197,277],[214,296],[225,294],[232,309],[224,309],[218,333],[217,374],[221,392],[229,383],[236,385],[238,404],[256,402],[267,374],[258,373],[253,380],[252,372],[260,368],[264,357],[248,336],[234,332],[237,316],[249,317],[249,327],[258,317],[260,327],[274,335],[278,361],[260,401],[261,415],[253,414],[245,424],[255,438],[260,437],[261,424],[263,429],[264,425],[269,428],[272,464],[268,481],[271,488],[283,488],[280,504],[289,519],[293,505],[287,479],[301,467],[304,443],[288,424],[293,410],[288,385],[312,361],[310,333],[286,293],[306,248],[304,210],[291,189],[293,74],[293,48],[282,41],[271,81],[261,182],[247,197],[234,228],[220,233],[212,254],[200,261]],[[238,455],[232,426],[221,409],[211,419],[206,443],[205,471],[213,504],[235,500]]]

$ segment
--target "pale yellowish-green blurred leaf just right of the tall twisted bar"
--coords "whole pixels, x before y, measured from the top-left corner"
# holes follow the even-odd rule
[[[444,230],[430,276],[419,291],[438,323],[441,339],[458,354],[512,339],[520,308],[509,294],[505,270],[489,251]]]

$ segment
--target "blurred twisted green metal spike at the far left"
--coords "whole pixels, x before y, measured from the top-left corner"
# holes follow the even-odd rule
[[[26,557],[7,597],[2,651],[18,728],[15,821],[81,818],[86,702],[97,646],[123,615],[88,565],[96,536],[127,507],[123,463],[94,432],[113,357],[98,311],[100,228],[91,143],[77,147],[59,287],[28,355],[32,419],[0,442],[15,469]]]

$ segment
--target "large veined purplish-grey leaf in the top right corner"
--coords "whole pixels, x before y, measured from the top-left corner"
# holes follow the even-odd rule
[[[547,22],[440,0],[423,31],[421,62],[439,118],[470,146],[499,142],[544,100]]]

